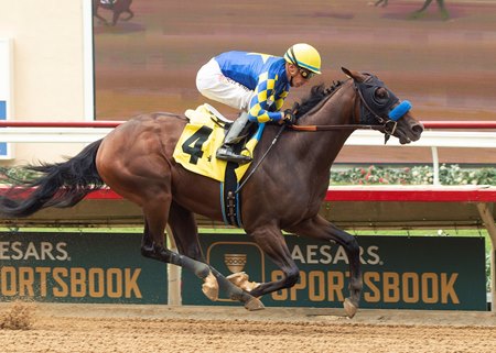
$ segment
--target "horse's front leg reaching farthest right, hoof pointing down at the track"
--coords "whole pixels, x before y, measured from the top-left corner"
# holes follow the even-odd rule
[[[362,280],[360,250],[355,236],[336,228],[320,216],[301,222],[288,229],[288,231],[322,241],[335,241],[344,247],[349,263],[349,297],[345,299],[343,305],[347,316],[353,318],[358,310],[364,286]]]

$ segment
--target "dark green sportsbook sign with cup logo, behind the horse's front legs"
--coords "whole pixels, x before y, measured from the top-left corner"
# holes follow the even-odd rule
[[[486,310],[483,238],[357,236],[364,290],[362,308]],[[283,274],[242,234],[202,234],[207,261],[226,276],[246,272],[250,282]],[[266,306],[342,307],[348,296],[348,261],[342,246],[288,235],[299,283],[261,298]],[[183,272],[183,304],[213,305],[201,282]],[[223,297],[215,305],[239,305]]]

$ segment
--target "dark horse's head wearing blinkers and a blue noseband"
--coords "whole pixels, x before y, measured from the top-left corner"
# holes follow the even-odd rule
[[[395,93],[375,75],[342,68],[349,76],[359,97],[360,124],[382,125],[386,135],[398,137],[401,144],[420,139],[423,125],[416,120],[409,101],[400,101]]]

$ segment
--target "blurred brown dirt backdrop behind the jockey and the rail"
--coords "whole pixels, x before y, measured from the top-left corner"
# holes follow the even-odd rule
[[[206,99],[195,76],[212,56],[230,51],[282,55],[313,44],[323,75],[312,85],[344,79],[341,67],[378,75],[412,112],[428,120],[496,120],[495,1],[449,0],[443,21],[435,1],[412,20],[423,0],[163,1],[134,0],[134,18],[115,27],[95,22],[96,113],[127,120],[150,111],[183,113]],[[110,12],[101,10],[106,18]],[[292,89],[287,107],[311,85]],[[226,106],[208,101],[235,117]],[[381,136],[378,135],[381,140]],[[439,148],[441,163],[495,164],[489,148]],[[431,163],[430,148],[346,146],[337,163]]]

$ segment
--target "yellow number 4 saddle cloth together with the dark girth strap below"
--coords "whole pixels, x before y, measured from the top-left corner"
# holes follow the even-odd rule
[[[227,224],[241,227],[239,194],[234,194],[234,190],[238,188],[239,180],[250,163],[238,165],[215,157],[230,121],[207,103],[200,106],[196,110],[188,109],[185,115],[190,122],[175,146],[173,154],[175,162],[190,172],[220,181],[220,192],[224,195],[220,198],[224,221]],[[265,123],[258,124],[257,132],[241,146],[242,154],[252,155],[263,129]]]

